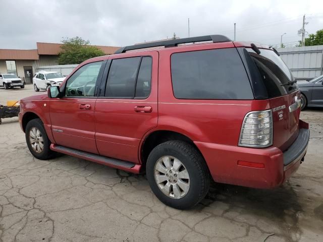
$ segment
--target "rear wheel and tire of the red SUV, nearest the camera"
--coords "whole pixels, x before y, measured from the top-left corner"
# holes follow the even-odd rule
[[[156,146],[146,164],[149,186],[155,196],[176,209],[199,203],[209,189],[209,171],[202,155],[183,141]]]

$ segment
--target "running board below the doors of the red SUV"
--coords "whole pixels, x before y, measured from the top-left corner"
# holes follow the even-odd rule
[[[133,172],[136,174],[139,174],[139,172],[140,172],[141,165],[135,164],[135,163],[132,163],[129,161],[118,160],[118,159],[114,159],[114,158],[110,158],[110,157],[106,157],[106,156],[102,156],[102,155],[97,155],[97,154],[93,154],[93,153],[89,153],[89,152],[85,152],[85,151],[81,151],[81,150],[68,148],[68,147],[61,146],[61,145],[56,145],[56,144],[51,144],[50,149],[53,151],[59,152],[59,153],[71,155],[71,156],[74,156],[77,158],[93,161],[93,162],[96,162],[96,163],[99,163],[102,165],[111,166],[114,168],[126,170],[126,171]]]

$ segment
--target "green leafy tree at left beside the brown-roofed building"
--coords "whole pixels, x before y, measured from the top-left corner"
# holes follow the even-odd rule
[[[62,43],[62,51],[59,53],[58,60],[60,65],[80,64],[86,59],[104,55],[101,49],[90,46],[89,40],[78,36],[63,38]]]

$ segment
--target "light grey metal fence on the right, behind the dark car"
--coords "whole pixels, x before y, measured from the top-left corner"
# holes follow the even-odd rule
[[[296,80],[323,75],[323,45],[278,48],[277,51]]]

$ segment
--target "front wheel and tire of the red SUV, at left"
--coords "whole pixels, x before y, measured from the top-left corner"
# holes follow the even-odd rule
[[[40,160],[47,160],[54,154],[50,150],[50,141],[39,118],[28,122],[25,130],[26,142],[30,153]]]

